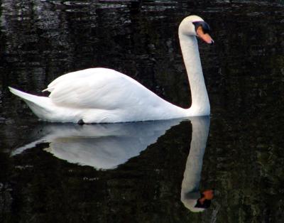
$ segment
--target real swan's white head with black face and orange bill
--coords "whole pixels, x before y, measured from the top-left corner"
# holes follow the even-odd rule
[[[197,36],[204,40],[205,43],[214,43],[209,35],[210,26],[200,16],[187,16],[184,18],[180,23],[178,32],[186,36]]]

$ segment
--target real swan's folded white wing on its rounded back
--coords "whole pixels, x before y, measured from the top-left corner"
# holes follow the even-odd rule
[[[53,103],[63,107],[118,109],[146,103],[158,106],[164,101],[130,77],[105,68],[63,75],[47,90]]]

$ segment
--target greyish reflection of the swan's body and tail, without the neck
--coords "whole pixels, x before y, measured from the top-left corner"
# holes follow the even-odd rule
[[[35,132],[43,137],[17,148],[13,155],[37,143],[49,143],[45,151],[69,163],[89,165],[97,169],[114,169],[138,156],[155,143],[171,126],[182,119],[141,121],[118,124],[46,124]]]

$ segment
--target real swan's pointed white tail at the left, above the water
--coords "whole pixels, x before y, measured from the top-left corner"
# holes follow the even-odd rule
[[[28,107],[33,111],[33,113],[38,116],[40,119],[46,120],[50,116],[50,108],[52,107],[52,102],[49,97],[40,97],[33,94],[28,94],[26,92],[21,92],[18,89],[9,87],[10,92],[15,94],[18,97],[21,97]]]

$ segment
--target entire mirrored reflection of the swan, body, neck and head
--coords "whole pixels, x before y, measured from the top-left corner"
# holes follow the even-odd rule
[[[45,124],[35,129],[43,137],[17,148],[13,155],[38,143],[49,143],[45,151],[69,163],[89,165],[96,169],[114,169],[138,156],[141,151],[155,143],[170,127],[182,119],[143,121],[119,124]],[[208,116],[190,118],[192,141],[182,180],[181,201],[192,212],[208,207],[212,190],[200,192],[202,160],[206,148],[210,120]]]

